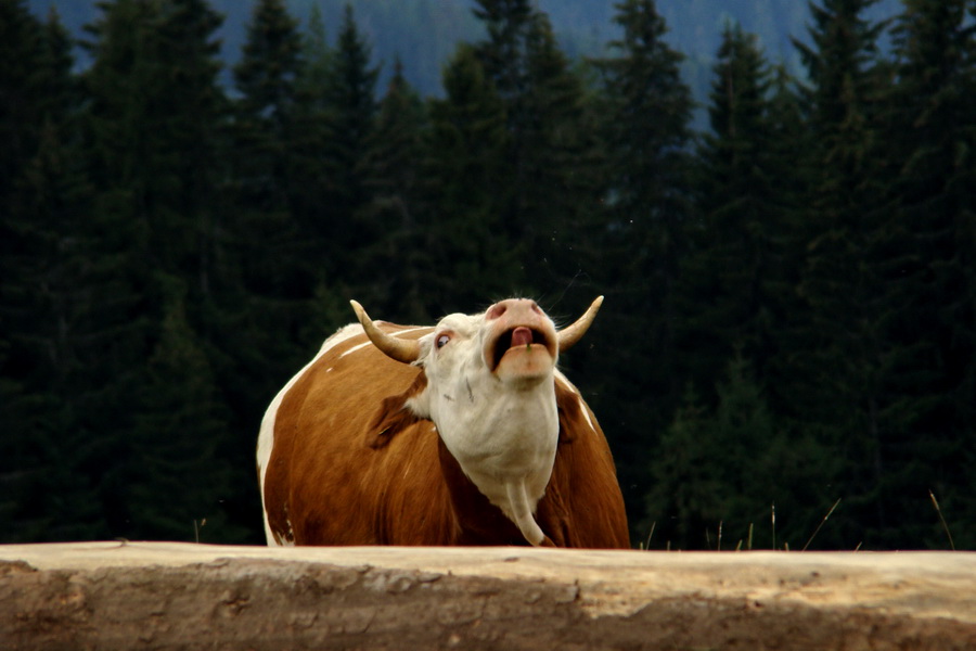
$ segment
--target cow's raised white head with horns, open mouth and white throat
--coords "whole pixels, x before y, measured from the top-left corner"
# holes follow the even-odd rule
[[[449,315],[418,341],[383,332],[352,302],[376,347],[423,369],[426,383],[407,407],[434,421],[465,474],[534,545],[543,535],[531,512],[549,483],[558,439],[555,365],[602,302],[598,297],[578,321],[556,330],[535,301],[510,298],[478,315]]]

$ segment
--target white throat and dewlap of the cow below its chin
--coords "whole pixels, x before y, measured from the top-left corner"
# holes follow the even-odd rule
[[[467,403],[465,408],[435,420],[464,474],[526,540],[539,545],[543,534],[532,513],[549,484],[558,442],[555,387],[547,380],[515,391],[500,388],[496,384],[455,391]]]

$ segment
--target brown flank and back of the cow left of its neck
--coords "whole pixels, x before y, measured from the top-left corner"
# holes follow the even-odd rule
[[[411,339],[431,331],[385,328]],[[434,425],[402,411],[421,371],[390,360],[364,334],[342,335],[266,417],[273,419],[262,473],[269,529],[285,545],[442,545],[449,513],[428,512],[434,526],[407,526],[416,511],[447,507]],[[385,413],[400,419],[394,427]]]

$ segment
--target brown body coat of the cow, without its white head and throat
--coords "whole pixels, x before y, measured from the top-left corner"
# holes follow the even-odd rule
[[[464,476],[434,423],[406,409],[426,385],[423,371],[372,345],[342,357],[365,341],[352,337],[323,355],[278,410],[264,497],[279,541],[526,545]],[[626,548],[624,500],[603,432],[591,412],[590,429],[589,407],[560,381],[555,393],[560,445],[536,511],[544,544]]]

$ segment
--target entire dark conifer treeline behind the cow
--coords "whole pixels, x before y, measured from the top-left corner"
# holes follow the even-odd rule
[[[254,443],[355,297],[512,294],[565,356],[652,548],[976,548],[973,0],[810,3],[808,81],[723,33],[693,102],[653,0],[570,62],[529,0],[422,99],[259,0],[107,0],[82,47],[0,0],[0,532],[262,538]],[[878,42],[890,38],[882,53]],[[773,516],[774,514],[774,516]]]

